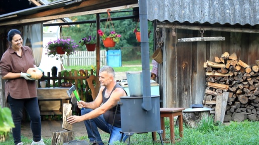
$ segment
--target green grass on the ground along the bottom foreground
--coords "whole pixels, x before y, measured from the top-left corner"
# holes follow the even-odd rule
[[[229,125],[224,125],[222,123],[213,123],[213,119],[210,118],[202,119],[196,128],[190,128],[184,125],[184,137],[181,138],[180,141],[176,141],[176,145],[186,145],[186,144],[199,144],[199,145],[225,145],[225,144],[233,144],[233,145],[255,145],[259,142],[259,131],[258,121],[242,121],[242,122],[231,122]],[[170,130],[169,130],[169,120],[166,119],[166,137],[169,138]],[[76,130],[75,130],[76,131]],[[175,127],[175,135],[176,138],[179,138],[179,128]],[[101,133],[102,139],[105,144],[107,144],[109,134]],[[159,135],[157,135],[159,139]],[[88,140],[87,136],[77,136],[75,139],[78,140]],[[24,144],[31,143],[31,139],[27,137],[22,137],[22,141]],[[51,144],[51,138],[44,138],[46,144]],[[127,144],[128,139],[124,143],[116,142],[114,144]],[[6,142],[1,142],[0,144],[8,145],[13,144],[13,137],[10,134],[10,137]],[[135,133],[131,136],[130,144],[143,144],[143,145],[151,145],[152,142],[152,134],[148,133]],[[156,142],[154,144],[161,144]],[[171,143],[164,143],[165,145],[169,145]]]

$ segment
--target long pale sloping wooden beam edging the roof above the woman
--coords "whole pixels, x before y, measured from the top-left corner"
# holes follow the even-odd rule
[[[110,9],[111,10],[120,10],[120,9],[127,9],[127,8],[133,8],[133,7],[139,7],[139,4],[130,4],[130,5],[111,7]],[[17,23],[22,24],[22,23],[42,22],[42,21],[49,21],[49,20],[60,19],[60,18],[71,17],[71,16],[101,13],[101,12],[106,12],[106,11],[107,11],[107,8],[102,8],[102,9],[97,9],[97,10],[75,12],[75,13],[69,13],[69,14],[60,14],[60,15],[53,15],[53,16],[44,16],[44,17],[28,18],[28,19],[21,19],[21,20],[12,20],[12,21],[7,21],[7,22],[0,22],[0,26],[12,25],[12,24],[17,24]]]

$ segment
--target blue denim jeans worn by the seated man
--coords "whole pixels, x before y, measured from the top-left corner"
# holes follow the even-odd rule
[[[81,110],[81,115],[84,115],[90,111],[92,111],[92,109],[84,108],[83,110]],[[96,118],[85,120],[84,124],[87,130],[87,134],[88,134],[88,138],[90,139],[90,142],[95,142],[98,144],[103,144],[98,128],[100,128],[101,130],[107,133],[110,133],[112,128],[112,124],[109,124],[104,120],[103,114],[99,115]],[[110,144],[112,144],[114,141],[120,140],[121,133],[119,131],[121,131],[121,128],[113,126],[112,133],[109,139]],[[124,142],[126,138],[127,136],[125,136],[124,134],[122,141]]]

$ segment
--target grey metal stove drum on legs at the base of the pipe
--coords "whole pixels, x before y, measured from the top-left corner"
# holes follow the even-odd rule
[[[142,108],[142,96],[121,96],[120,116],[122,132],[154,132],[161,130],[160,126],[160,105],[159,95],[152,95],[152,108],[145,110]]]

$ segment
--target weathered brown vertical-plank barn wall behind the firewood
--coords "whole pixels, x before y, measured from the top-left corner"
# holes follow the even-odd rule
[[[162,32],[163,33],[163,32]],[[163,107],[186,107],[202,103],[205,91],[206,60],[215,61],[225,51],[252,65],[259,59],[259,33],[205,31],[203,36],[223,36],[224,41],[196,41],[177,43],[178,38],[200,37],[198,30],[164,30],[163,63],[159,65],[159,83]]]

